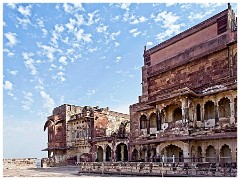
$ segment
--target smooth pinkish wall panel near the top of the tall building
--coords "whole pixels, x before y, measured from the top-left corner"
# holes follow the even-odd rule
[[[162,62],[169,57],[172,57],[182,51],[185,51],[186,49],[192,46],[200,44],[216,36],[217,36],[217,23],[205,29],[202,29],[201,31],[198,31],[195,34],[192,34],[191,36],[188,36],[170,46],[167,46],[154,54],[151,54],[150,55],[151,65],[153,66],[159,62]]]

